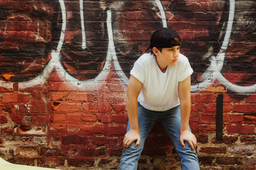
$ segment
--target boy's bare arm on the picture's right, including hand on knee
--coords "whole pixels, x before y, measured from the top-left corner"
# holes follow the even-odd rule
[[[180,99],[180,143],[185,148],[184,141],[188,141],[192,150],[196,147],[196,138],[188,129],[189,115],[191,108],[190,86],[191,76],[179,82],[179,99]]]

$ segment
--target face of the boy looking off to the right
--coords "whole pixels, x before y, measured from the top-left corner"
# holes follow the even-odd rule
[[[174,66],[179,59],[180,46],[172,46],[171,48],[162,48],[158,50],[158,61],[166,64],[166,66]]]

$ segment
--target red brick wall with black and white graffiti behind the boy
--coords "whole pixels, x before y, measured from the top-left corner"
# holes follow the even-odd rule
[[[193,67],[201,169],[256,169],[255,1],[0,1],[0,157],[117,169],[129,70],[152,32],[177,30]],[[223,139],[216,97],[223,94]],[[156,124],[140,169],[180,169]]]

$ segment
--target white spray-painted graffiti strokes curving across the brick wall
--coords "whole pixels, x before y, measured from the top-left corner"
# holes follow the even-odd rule
[[[36,8],[35,2],[31,0]],[[19,88],[24,89],[27,87],[33,87],[38,84],[44,84],[45,81],[48,80],[49,74],[51,73],[52,69],[56,69],[58,71],[58,74],[67,82],[71,83],[72,85],[78,87],[78,88],[89,88],[89,87],[95,87],[97,83],[100,81],[106,80],[108,74],[111,71],[111,63],[113,63],[113,66],[115,68],[115,73],[117,74],[118,78],[120,78],[120,81],[124,83],[126,86],[128,84],[128,78],[125,76],[124,72],[122,71],[122,68],[120,67],[120,64],[118,62],[118,59],[116,57],[116,51],[115,51],[115,45],[113,40],[113,29],[112,29],[112,20],[111,20],[111,11],[107,10],[107,18],[106,18],[106,24],[108,29],[108,53],[106,56],[106,62],[104,64],[104,67],[102,71],[97,75],[96,78],[93,78],[92,80],[86,80],[81,81],[77,78],[74,78],[73,76],[70,76],[63,66],[61,66],[61,47],[63,45],[63,41],[65,39],[65,29],[66,29],[66,15],[67,11],[65,10],[65,3],[63,0],[59,0],[60,7],[61,7],[61,17],[62,17],[62,27],[61,27],[61,35],[60,35],[60,41],[58,42],[58,46],[56,50],[52,50],[51,52],[51,60],[48,62],[47,66],[45,66],[44,71],[42,71],[42,74],[34,78],[33,80],[19,82]],[[163,22],[163,27],[167,27],[166,23],[166,16],[164,8],[161,4],[161,1],[155,0],[155,3],[157,4],[157,8],[160,11],[161,19]],[[191,91],[195,92],[198,90],[205,89],[212,85],[214,80],[219,80],[221,84],[227,89],[232,90],[233,92],[237,93],[252,93],[256,91],[256,84],[248,86],[248,87],[242,87],[239,85],[234,85],[230,83],[222,74],[221,69],[223,67],[223,62],[225,59],[225,51],[227,50],[228,41],[230,39],[230,33],[232,32],[232,24],[234,20],[234,11],[235,11],[235,1],[230,0],[229,1],[229,15],[228,15],[228,22],[227,22],[227,30],[225,31],[225,37],[223,39],[223,43],[221,45],[220,52],[216,56],[211,56],[211,65],[207,68],[207,71],[205,71],[204,74],[202,74],[202,82],[198,83],[196,85],[191,86]],[[82,49],[86,48],[86,35],[85,35],[85,27],[84,27],[84,13],[83,13],[83,0],[79,0],[79,6],[80,6],[80,17],[81,17],[81,32],[82,32]],[[0,85],[2,87],[6,87],[9,89],[12,89],[13,83],[6,82],[6,81],[0,81]]]

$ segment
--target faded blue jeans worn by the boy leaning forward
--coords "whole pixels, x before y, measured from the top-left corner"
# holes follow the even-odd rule
[[[185,149],[180,145],[180,106],[167,111],[151,111],[143,108],[138,103],[138,122],[141,138],[140,145],[135,148],[136,141],[134,141],[129,148],[123,150],[120,160],[120,170],[137,169],[145,140],[155,122],[159,122],[163,126],[164,131],[172,140],[173,146],[180,158],[182,169],[200,169],[196,151],[191,150],[187,141],[184,142],[186,145]],[[130,125],[128,122],[127,131],[129,129]],[[191,131],[190,128],[189,131]]]

